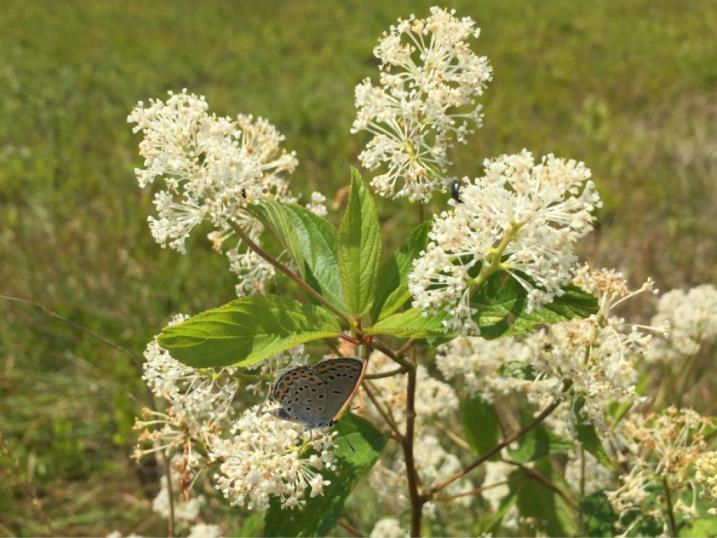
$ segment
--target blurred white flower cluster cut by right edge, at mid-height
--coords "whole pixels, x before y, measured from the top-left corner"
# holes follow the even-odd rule
[[[682,368],[684,359],[717,341],[717,288],[705,284],[668,291],[660,297],[652,324],[667,325],[669,334],[654,339],[647,359]]]

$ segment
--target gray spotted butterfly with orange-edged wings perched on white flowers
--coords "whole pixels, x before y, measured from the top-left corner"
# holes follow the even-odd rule
[[[342,357],[284,372],[271,394],[281,404],[274,416],[307,428],[333,426],[356,394],[366,364],[361,359]]]

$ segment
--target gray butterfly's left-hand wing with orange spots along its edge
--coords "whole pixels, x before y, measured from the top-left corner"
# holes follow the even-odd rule
[[[328,397],[323,380],[309,366],[284,372],[276,380],[272,397],[281,404],[278,418],[298,422],[309,428],[324,426],[321,417]]]

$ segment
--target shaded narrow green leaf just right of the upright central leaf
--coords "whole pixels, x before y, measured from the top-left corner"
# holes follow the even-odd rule
[[[413,260],[426,248],[430,222],[418,226],[406,242],[381,264],[376,300],[371,308],[372,319],[383,319],[401,308],[411,298],[408,291],[408,273]]]

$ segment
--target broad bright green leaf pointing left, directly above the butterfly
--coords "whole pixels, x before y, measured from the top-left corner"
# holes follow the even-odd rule
[[[341,327],[327,310],[276,296],[237,299],[165,327],[159,345],[195,368],[250,366]]]

